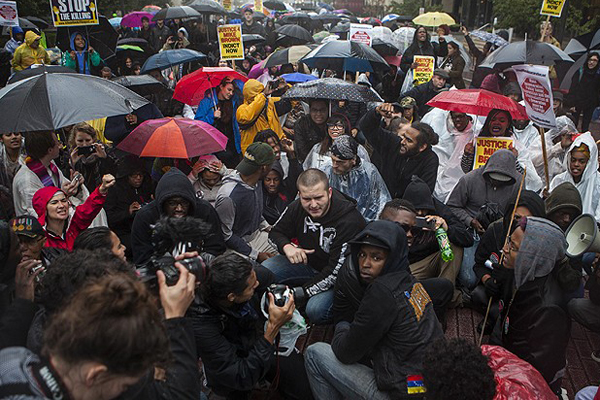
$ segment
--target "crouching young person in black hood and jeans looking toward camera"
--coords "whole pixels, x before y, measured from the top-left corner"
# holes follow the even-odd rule
[[[423,355],[443,333],[429,295],[410,274],[406,235],[396,223],[373,221],[349,244],[335,288],[333,341],[305,353],[313,394],[423,398]]]

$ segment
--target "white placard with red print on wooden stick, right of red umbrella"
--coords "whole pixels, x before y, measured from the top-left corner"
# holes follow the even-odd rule
[[[542,128],[556,128],[548,67],[515,65],[512,68],[517,74],[529,119]]]

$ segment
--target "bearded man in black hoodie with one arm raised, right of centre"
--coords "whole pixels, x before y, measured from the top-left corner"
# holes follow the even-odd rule
[[[423,179],[433,193],[439,160],[431,147],[438,143],[438,136],[423,123],[402,127],[398,132],[383,129],[381,118],[389,118],[393,113],[392,104],[381,104],[359,123],[360,130],[382,160],[377,167],[383,181],[392,198],[402,198],[413,175]]]

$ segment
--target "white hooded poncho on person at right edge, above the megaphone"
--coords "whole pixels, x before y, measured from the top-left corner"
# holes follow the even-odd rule
[[[563,161],[565,172],[556,175],[554,179],[552,179],[552,182],[550,183],[550,191],[563,182],[572,183],[575,185],[579,191],[579,194],[581,195],[583,213],[592,214],[596,218],[596,221],[600,221],[600,173],[598,173],[598,148],[596,147],[596,142],[594,141],[592,134],[586,132],[577,137],[573,141],[573,144],[571,144],[571,147],[569,147],[567,153],[570,154],[574,148],[579,147],[582,144],[585,144],[590,149],[590,159],[588,160],[579,183],[575,183],[573,180],[573,176],[571,175],[569,168],[571,164],[571,157],[567,155]]]

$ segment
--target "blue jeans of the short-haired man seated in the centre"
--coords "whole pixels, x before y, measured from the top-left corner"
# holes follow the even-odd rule
[[[275,275],[275,281],[288,286],[301,286],[315,277],[319,271],[306,264],[292,264],[279,254],[262,263]],[[306,303],[306,316],[313,324],[323,325],[333,321],[333,288],[311,296]]]

